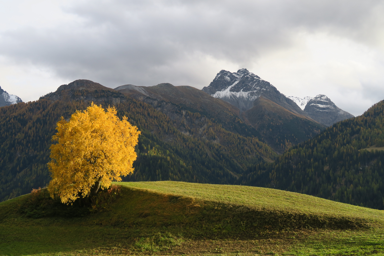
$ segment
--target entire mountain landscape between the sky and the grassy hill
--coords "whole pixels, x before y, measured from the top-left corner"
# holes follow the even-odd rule
[[[353,117],[325,95],[286,97],[247,69],[222,70],[202,90],[76,80],[38,101],[6,104],[1,201],[49,182],[56,122],[91,102],[116,106],[142,132],[124,181],[252,185],[384,208],[384,102]]]

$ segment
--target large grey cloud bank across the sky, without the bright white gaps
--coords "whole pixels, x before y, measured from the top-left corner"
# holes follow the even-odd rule
[[[265,51],[294,44],[297,30],[366,40],[367,24],[374,22],[369,17],[377,8],[382,1],[88,1],[66,9],[81,21],[3,33],[0,55],[51,67],[63,78],[94,79],[111,87],[154,85],[169,78],[202,87],[213,77],[207,81],[200,74],[209,66],[187,70],[193,55],[247,67]]]

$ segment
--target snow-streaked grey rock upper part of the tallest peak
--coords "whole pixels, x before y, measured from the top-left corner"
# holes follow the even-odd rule
[[[209,86],[204,87],[202,91],[229,102],[238,107],[240,112],[251,109],[255,99],[263,96],[289,111],[305,115],[295,102],[281,94],[275,86],[245,68],[234,73],[226,70],[220,71]]]

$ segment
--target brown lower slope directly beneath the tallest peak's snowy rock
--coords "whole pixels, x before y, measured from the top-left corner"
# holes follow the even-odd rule
[[[242,113],[242,117],[279,153],[291,145],[311,139],[324,129],[322,124],[291,112],[262,96],[253,102],[251,109]]]

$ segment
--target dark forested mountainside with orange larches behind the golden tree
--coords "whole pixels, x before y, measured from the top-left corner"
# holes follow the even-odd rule
[[[155,109],[92,81],[77,80],[38,101],[0,108],[0,201],[49,182],[46,163],[56,122],[60,116],[70,117],[76,109],[86,109],[92,101],[104,107],[116,106],[118,115],[126,115],[142,132],[135,172],[126,181],[233,184],[251,165],[276,157],[252,134],[228,131],[199,112],[166,101],[157,101]],[[167,109],[168,116],[162,108]],[[238,124],[247,126],[241,121]]]

